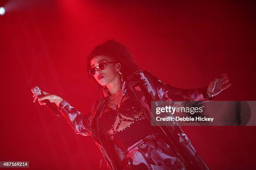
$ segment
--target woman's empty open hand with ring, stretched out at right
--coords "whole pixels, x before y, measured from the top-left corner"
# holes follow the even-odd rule
[[[230,87],[231,83],[229,82],[227,74],[222,74],[212,80],[207,87],[207,94],[209,97],[218,95],[221,91],[225,90],[226,88]]]

